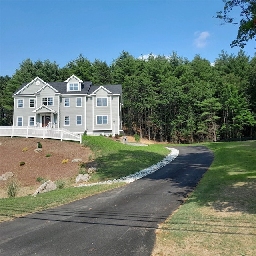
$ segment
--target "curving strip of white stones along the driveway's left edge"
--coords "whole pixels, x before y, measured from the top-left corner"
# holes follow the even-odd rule
[[[107,181],[91,183],[91,184],[82,184],[82,185],[78,185],[75,187],[77,188],[77,187],[94,186],[94,185],[102,185],[102,184],[112,184],[112,183],[117,183],[117,182],[130,183],[130,182],[133,182],[140,178],[143,178],[143,177],[147,176],[148,174],[151,174],[151,173],[157,171],[158,169],[160,169],[161,167],[165,166],[166,164],[170,163],[172,160],[174,160],[178,156],[179,150],[177,150],[176,148],[167,148],[167,149],[171,150],[171,153],[168,156],[166,156],[162,161],[158,162],[157,164],[153,164],[152,166],[150,166],[144,170],[141,170],[139,172],[130,174],[126,177],[122,177],[119,179],[107,180]]]

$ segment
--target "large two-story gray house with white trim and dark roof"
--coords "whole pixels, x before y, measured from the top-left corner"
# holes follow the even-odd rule
[[[36,77],[14,98],[13,126],[66,128],[88,135],[123,134],[121,85],[92,85],[75,75],[64,82]]]

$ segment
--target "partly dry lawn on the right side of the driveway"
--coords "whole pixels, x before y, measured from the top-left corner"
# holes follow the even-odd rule
[[[215,158],[184,205],[158,230],[154,256],[254,255],[256,142],[206,144]]]

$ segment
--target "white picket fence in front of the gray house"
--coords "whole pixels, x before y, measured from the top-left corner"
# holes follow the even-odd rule
[[[70,132],[64,128],[36,127],[36,126],[0,126],[0,136],[6,137],[34,137],[56,140],[72,140],[82,143],[82,135]]]

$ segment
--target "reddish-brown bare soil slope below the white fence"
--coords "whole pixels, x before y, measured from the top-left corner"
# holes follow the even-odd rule
[[[127,136],[128,142],[135,142],[133,136]],[[122,138],[110,138],[119,140]],[[37,142],[42,144],[42,152],[36,153]],[[158,143],[152,140],[140,139],[140,143]],[[26,151],[23,151],[24,149]],[[20,185],[18,196],[33,194],[41,185],[38,177],[56,181],[59,179],[73,179],[78,174],[78,163],[72,163],[75,158],[82,158],[88,162],[89,155],[93,156],[90,148],[71,141],[50,140],[42,138],[10,138],[0,137],[0,176],[6,172],[13,172]],[[51,155],[46,157],[46,155]],[[62,160],[68,160],[63,164]],[[20,162],[25,165],[20,166]],[[88,166],[88,165],[87,165]],[[6,181],[0,180],[0,198],[6,198]],[[75,183],[74,183],[75,184]]]

